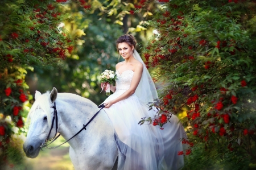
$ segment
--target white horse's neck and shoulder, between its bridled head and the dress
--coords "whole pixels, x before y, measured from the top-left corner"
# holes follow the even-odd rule
[[[58,94],[56,100],[60,118],[59,132],[65,140],[81,130],[99,110],[88,99],[69,94],[68,96],[71,98],[59,98]],[[101,111],[86,130],[82,130],[68,143],[71,146],[69,155],[76,169],[110,169],[117,158],[114,128],[105,111]]]

